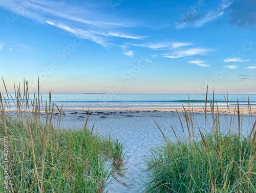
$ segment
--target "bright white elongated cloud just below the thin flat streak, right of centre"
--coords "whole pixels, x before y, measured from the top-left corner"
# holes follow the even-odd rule
[[[165,58],[183,58],[183,57],[188,57],[188,56],[205,55],[208,52],[211,52],[211,50],[201,48],[201,47],[196,47],[193,49],[179,50],[179,51],[174,52],[173,54],[164,54],[163,57],[165,57]]]

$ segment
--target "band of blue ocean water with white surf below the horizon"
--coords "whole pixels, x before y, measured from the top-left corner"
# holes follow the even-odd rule
[[[30,95],[33,96],[33,95]],[[251,106],[256,106],[256,94],[215,94],[215,103],[219,107],[234,107],[239,101],[240,106],[248,106],[248,96]],[[41,94],[42,102],[49,103],[49,94]],[[227,100],[227,102],[226,102]],[[208,94],[208,104],[213,101],[212,94]],[[9,99],[11,106],[15,100]],[[146,108],[182,108],[204,107],[203,94],[52,94],[51,102],[63,109],[111,108],[111,109],[146,109]]]

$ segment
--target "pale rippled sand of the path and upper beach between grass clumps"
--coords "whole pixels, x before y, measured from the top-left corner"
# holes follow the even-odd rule
[[[99,111],[99,110],[98,110]],[[77,114],[71,114],[66,112],[62,116],[61,127],[71,129],[81,129],[84,127],[87,115],[83,115],[82,111],[76,111]],[[89,117],[89,129],[93,124],[94,131],[99,132],[100,135],[113,136],[124,142],[124,148],[126,156],[129,157],[126,167],[128,167],[125,173],[125,178],[119,177],[118,179],[125,182],[127,186],[112,181],[109,192],[142,192],[143,185],[146,180],[147,174],[143,172],[146,168],[145,159],[149,153],[149,149],[159,147],[165,143],[165,140],[159,131],[157,125],[154,123],[153,118],[156,120],[162,131],[171,140],[175,140],[175,135],[170,128],[169,124],[172,124],[178,137],[183,137],[183,132],[180,126],[180,121],[177,112],[170,111],[92,111]],[[182,115],[182,112],[180,112]],[[231,117],[233,114],[227,114],[227,117]],[[181,116],[184,121],[184,116]],[[56,120],[57,118],[55,118]],[[229,129],[228,124],[225,121],[223,115],[220,116],[222,130],[227,131]],[[243,116],[243,133],[248,134],[247,130],[251,129],[251,125],[254,123],[256,115]],[[209,122],[206,124],[207,128],[211,128],[212,118],[208,114]],[[198,133],[198,127],[204,130],[204,113],[194,113],[194,126],[196,133]],[[185,124],[185,123],[184,123]],[[237,124],[237,122],[236,122]],[[233,127],[236,127],[236,124]],[[184,125],[185,132],[186,125]]]

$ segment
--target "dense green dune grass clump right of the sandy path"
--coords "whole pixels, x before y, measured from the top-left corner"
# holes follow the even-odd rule
[[[256,122],[250,134],[243,136],[238,103],[237,116],[225,117],[230,129],[224,133],[214,103],[210,103],[210,117],[205,104],[205,123],[213,123],[209,132],[202,132],[206,124],[195,128],[193,110],[184,109],[184,117],[177,112],[183,132],[187,128],[184,138],[177,138],[173,129],[177,140],[170,141],[157,125],[166,144],[151,150],[146,160],[149,176],[145,192],[256,192]],[[236,125],[233,122],[238,123],[237,128],[231,128]],[[199,135],[195,135],[196,129]]]

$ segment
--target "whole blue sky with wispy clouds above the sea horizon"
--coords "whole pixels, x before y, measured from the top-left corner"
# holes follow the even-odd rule
[[[0,0],[9,91],[255,94],[255,53],[255,0]]]

